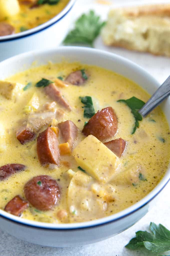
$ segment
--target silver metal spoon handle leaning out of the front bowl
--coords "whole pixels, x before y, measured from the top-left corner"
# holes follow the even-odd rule
[[[142,116],[148,115],[156,106],[170,95],[170,76],[165,82],[155,91],[152,97],[138,111]]]

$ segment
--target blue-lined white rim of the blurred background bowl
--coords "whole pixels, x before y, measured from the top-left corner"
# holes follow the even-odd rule
[[[1,36],[0,37],[0,43],[1,42],[13,41],[13,40],[21,39],[21,38],[24,38],[24,37],[28,37],[28,36],[39,33],[41,31],[53,26],[55,23],[59,22],[59,20],[61,20],[64,16],[66,16],[70,12],[70,10],[72,9],[75,1],[76,0],[70,0],[68,2],[68,4],[61,10],[60,13],[58,13],[56,16],[54,16],[53,18],[51,18],[47,22],[45,22],[45,23],[43,23],[39,26],[36,26],[35,28],[31,28],[31,29],[28,29],[26,31],[16,33],[16,34],[12,34],[12,35]]]

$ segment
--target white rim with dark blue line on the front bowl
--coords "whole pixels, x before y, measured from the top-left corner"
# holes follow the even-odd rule
[[[133,69],[134,71],[140,73],[143,77],[147,77],[148,80],[151,80],[151,82],[156,85],[156,87],[160,86],[160,83],[153,78],[150,73],[148,73],[145,69],[137,65],[136,63],[113,53],[103,51],[103,50],[98,50],[98,49],[93,49],[93,48],[88,48],[88,47],[75,47],[75,46],[62,46],[54,49],[46,49],[46,50],[39,50],[39,51],[30,51],[26,52],[14,57],[11,57],[9,59],[6,59],[2,62],[0,62],[0,70],[1,66],[7,66],[8,63],[15,63],[16,61],[19,60],[29,60],[32,56],[34,59],[36,56],[40,57],[40,59],[45,56],[48,56],[50,54],[60,54],[64,52],[64,54],[67,54],[67,52],[74,52],[75,54],[79,54],[79,52],[82,52],[82,54],[87,54],[87,55],[94,55],[94,56],[102,56],[105,55],[108,59],[112,59],[113,61],[119,61],[123,66],[128,66],[129,68]],[[63,53],[62,53],[63,54]],[[100,65],[99,65],[100,66]],[[114,71],[113,71],[114,72]],[[85,221],[85,222],[77,222],[77,223],[67,223],[67,224],[56,224],[56,223],[45,223],[45,222],[38,222],[38,221],[31,221],[27,219],[22,219],[20,217],[14,216],[12,214],[9,214],[8,212],[5,212],[4,210],[0,209],[0,218],[4,218],[7,221],[15,222],[18,225],[24,225],[29,228],[38,228],[38,229],[46,229],[46,230],[59,230],[59,231],[64,231],[64,230],[76,230],[76,229],[87,229],[87,228],[93,228],[97,226],[102,226],[106,225],[118,220],[121,220],[134,212],[140,210],[143,208],[145,205],[147,205],[152,199],[157,196],[161,190],[166,186],[166,184],[170,180],[170,172],[168,172],[169,167],[167,168],[167,171],[164,175],[164,177],[160,180],[160,182],[156,185],[156,187],[150,191],[149,194],[147,194],[145,197],[143,197],[141,200],[139,200],[137,203],[133,204],[132,206],[117,212],[115,214],[109,215],[104,218],[100,218],[97,220],[91,220],[91,221]]]

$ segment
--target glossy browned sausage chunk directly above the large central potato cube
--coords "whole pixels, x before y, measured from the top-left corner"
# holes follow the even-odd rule
[[[100,141],[113,137],[118,129],[118,121],[111,107],[98,111],[83,128],[83,134],[94,135]]]

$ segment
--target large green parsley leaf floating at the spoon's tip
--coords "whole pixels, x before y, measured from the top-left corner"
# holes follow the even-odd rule
[[[136,97],[132,97],[128,100],[118,100],[117,102],[124,102],[131,109],[131,112],[135,118],[135,126],[132,131],[132,134],[134,134],[137,127],[139,127],[138,121],[142,121],[142,116],[141,114],[139,114],[138,110],[141,109],[143,105],[145,105],[145,102],[143,102],[142,100],[139,100]]]

